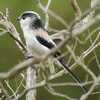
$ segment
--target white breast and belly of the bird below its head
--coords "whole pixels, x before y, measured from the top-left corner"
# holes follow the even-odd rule
[[[41,56],[45,56],[50,50],[37,41],[35,34],[33,30],[24,30],[24,37],[29,51],[34,57],[40,58]]]

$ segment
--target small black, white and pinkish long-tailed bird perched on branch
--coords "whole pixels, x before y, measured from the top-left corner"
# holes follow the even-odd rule
[[[21,29],[24,34],[26,46],[36,59],[41,59],[42,56],[47,55],[53,48],[56,47],[55,42],[50,38],[48,32],[42,24],[41,17],[34,11],[25,11],[18,17]],[[59,56],[59,52],[56,52],[53,57]],[[71,77],[78,83],[81,83],[79,77],[77,77],[66,65],[64,58],[57,59],[59,63],[66,69]],[[83,92],[86,93],[86,88],[81,86]]]

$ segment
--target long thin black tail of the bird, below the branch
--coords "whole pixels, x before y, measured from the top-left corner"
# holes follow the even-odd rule
[[[74,81],[76,81],[80,88],[83,90],[84,93],[87,92],[86,88],[82,85],[80,85],[80,83],[82,83],[82,81],[80,80],[80,78],[78,76],[76,76],[70,69],[69,66],[66,65],[64,58],[59,58],[58,61],[61,63],[61,65],[69,72],[69,74],[71,75],[71,77],[74,79]]]

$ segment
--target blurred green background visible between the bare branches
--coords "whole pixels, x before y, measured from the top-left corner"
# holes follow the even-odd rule
[[[84,12],[88,8],[90,8],[90,0],[77,0],[78,4]],[[41,0],[41,2],[45,5],[47,3],[47,0]],[[44,13],[43,11],[37,6],[36,0],[0,0],[0,11],[5,13],[5,9],[9,9],[9,17],[12,23],[16,26],[19,33],[22,35],[22,31],[20,29],[19,23],[16,21],[16,18],[26,10],[34,10],[38,12],[44,22]],[[74,18],[74,11],[69,3],[69,0],[52,0],[52,3],[50,5],[50,9],[53,10],[55,13],[57,13],[60,17],[62,17],[68,24],[70,24]],[[63,26],[61,23],[59,23],[57,20],[55,20],[53,17],[50,16],[50,27],[61,30],[64,29],[65,26]],[[99,23],[95,24],[94,26],[90,27],[88,31],[92,31],[94,28],[98,27]],[[1,26],[2,27],[2,26]],[[87,34],[89,32],[86,31],[84,34],[80,35],[79,38],[81,40],[84,40]],[[93,35],[92,38],[95,38],[97,33]],[[88,48],[90,45],[90,41],[87,41],[85,44],[79,44],[76,49],[76,54],[80,55],[82,51],[84,51],[86,48]],[[96,54],[97,59],[100,61],[100,49],[96,48]],[[93,70],[96,75],[98,75],[99,70],[97,68],[96,60],[93,59],[90,63],[88,59],[91,59],[93,57],[93,53],[90,54],[86,59],[85,62],[88,63],[88,67]],[[12,68],[17,63],[21,62],[24,59],[22,53],[17,48],[14,40],[9,36],[9,34],[5,34],[0,36],[0,72],[1,71],[7,71],[10,68]],[[75,73],[79,75],[82,79],[84,79],[85,72],[82,71],[82,69],[76,69]],[[69,77],[60,77],[59,79],[55,81],[68,81],[70,80]],[[18,83],[20,81],[20,78],[16,76],[16,80],[11,79],[10,84],[12,85],[13,89],[16,89]],[[14,85],[13,85],[14,84]],[[21,88],[23,89],[23,88]],[[99,89],[99,88],[98,88]],[[68,94],[71,97],[78,97],[81,94],[81,90],[77,89],[76,87],[57,87],[57,91],[60,91],[61,93]],[[10,91],[11,92],[11,91]],[[44,88],[38,88],[37,92],[37,100],[65,100],[65,98],[53,96],[50,93],[48,93]],[[21,100],[25,100],[24,97],[21,98]],[[100,95],[91,95],[87,100],[100,100]]]

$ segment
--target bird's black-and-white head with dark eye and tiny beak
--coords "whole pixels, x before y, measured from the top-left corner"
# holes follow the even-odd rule
[[[38,13],[34,11],[25,11],[18,17],[18,21],[20,22],[21,28],[41,28],[42,22]]]

